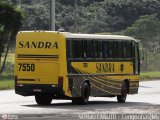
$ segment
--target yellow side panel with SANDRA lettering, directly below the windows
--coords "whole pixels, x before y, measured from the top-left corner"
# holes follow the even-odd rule
[[[72,62],[71,65],[88,74],[133,74],[132,62]]]

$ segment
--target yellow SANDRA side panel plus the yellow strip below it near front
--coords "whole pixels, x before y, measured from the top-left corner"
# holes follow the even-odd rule
[[[132,62],[72,62],[71,65],[79,74],[104,75],[101,79],[115,81],[139,81]]]

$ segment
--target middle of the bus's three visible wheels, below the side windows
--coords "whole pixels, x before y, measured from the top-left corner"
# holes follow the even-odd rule
[[[73,98],[72,104],[81,104],[81,105],[87,104],[89,100],[89,95],[90,95],[90,88],[88,83],[85,82],[82,86],[81,97]]]

